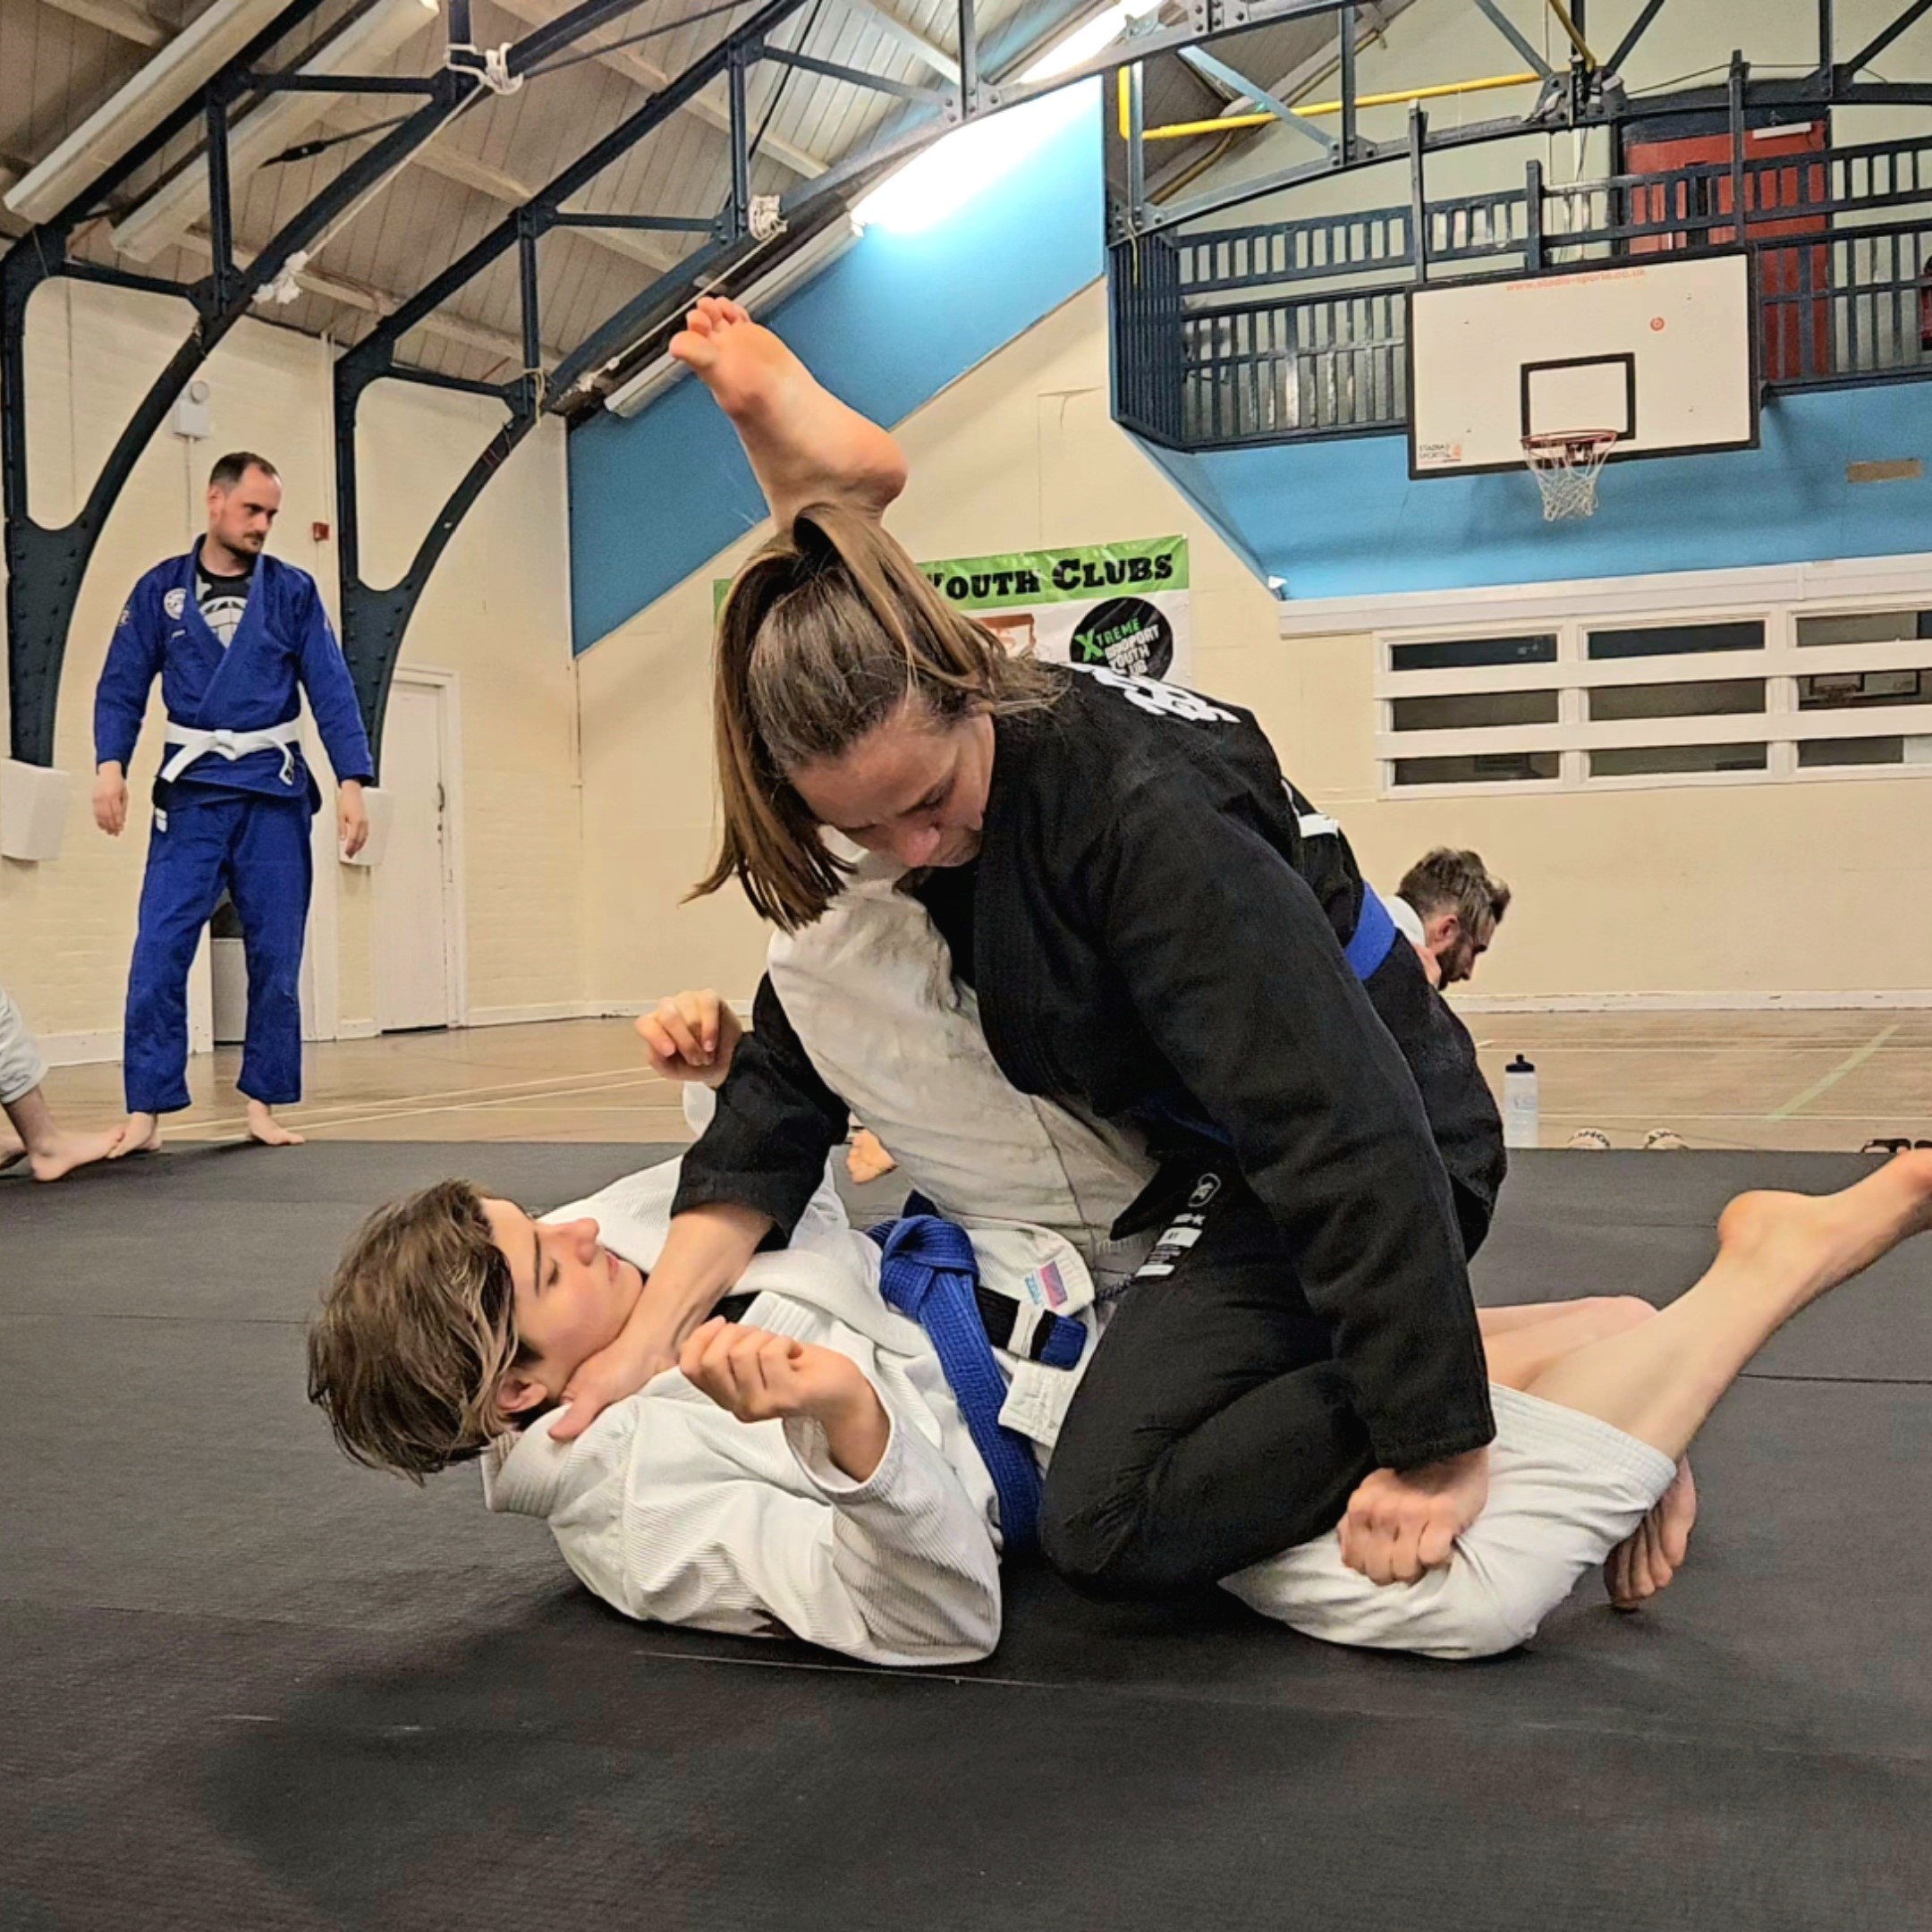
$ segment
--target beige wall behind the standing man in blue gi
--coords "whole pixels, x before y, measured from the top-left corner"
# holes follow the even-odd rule
[[[185,305],[73,282],[35,296],[27,352],[37,520],[64,524],[73,514],[189,321]],[[236,328],[203,371],[211,439],[158,435],[95,551],[62,670],[56,763],[73,775],[66,846],[52,864],[0,862],[0,981],[56,1059],[118,1053],[147,852],[143,811],[110,840],[89,810],[93,690],[114,620],[135,578],[201,531],[207,468],[236,446],[261,448],[280,466],[274,553],[313,572],[334,611],[334,543],[313,541],[309,527],[336,516],[328,355],[327,344],[290,330]],[[495,419],[479,400],[394,384],[365,398],[365,553],[375,582],[400,574]],[[582,871],[560,425],[545,425],[483,495],[423,599],[406,657],[446,667],[460,684],[469,1007],[483,1016],[576,1010]],[[156,692],[129,775],[137,800],[158,763],[158,723]],[[512,881],[520,916],[541,918],[564,943],[529,947],[510,933]],[[319,974],[321,989],[336,993],[334,1010],[317,1016],[325,1034],[371,1024],[369,960],[381,935],[371,931],[367,889],[367,873],[319,867],[317,931],[338,933]]]

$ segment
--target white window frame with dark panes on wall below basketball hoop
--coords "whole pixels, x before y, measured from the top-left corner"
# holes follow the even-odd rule
[[[1534,587],[1524,587],[1534,593]],[[1551,589],[1557,589],[1551,585]],[[1607,593],[1607,595],[1605,595]],[[1492,593],[1493,597],[1493,593]],[[1567,603],[1565,611],[1561,605]],[[1578,609],[1578,605],[1584,605]],[[1822,765],[1799,769],[1799,744],[1816,738],[1932,736],[1932,703],[1872,705],[1870,709],[1799,709],[1799,678],[1822,672],[1932,668],[1932,639],[1893,643],[1799,645],[1797,622],[1812,616],[1851,616],[1866,611],[1932,609],[1932,572],[1907,587],[1889,582],[1862,595],[1801,597],[1797,601],[1685,601],[1633,597],[1623,609],[1611,585],[1592,585],[1588,599],[1551,597],[1536,611],[1534,595],[1515,595],[1480,620],[1376,628],[1376,759],[1381,798],[1497,796],[1540,798],[1549,792],[1652,792],[1710,784],[1859,784],[1880,779],[1932,779],[1932,763]],[[1588,657],[1590,632],[1673,630],[1687,624],[1758,622],[1762,651],[1696,651],[1667,657]],[[1287,628],[1287,626],[1285,626]],[[1300,626],[1296,626],[1300,628]],[[1393,649],[1406,643],[1451,643],[1464,638],[1546,636],[1557,639],[1555,663],[1486,665],[1463,670],[1395,670]],[[1621,719],[1592,723],[1588,692],[1631,684],[1706,684],[1764,680],[1764,711],[1708,717]],[[1557,692],[1555,724],[1464,726],[1457,730],[1393,728],[1397,697],[1472,697],[1486,692]],[[1590,777],[1592,752],[1690,746],[1764,744],[1762,771],[1673,771],[1636,777]],[[1397,784],[1395,761],[1468,757],[1499,752],[1555,752],[1553,779],[1482,779],[1447,784]]]

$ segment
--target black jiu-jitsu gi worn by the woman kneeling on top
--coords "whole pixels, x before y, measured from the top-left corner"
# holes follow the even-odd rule
[[[1464,1254],[1501,1124],[1414,952],[1350,970],[1354,860],[1248,713],[1086,672],[995,730],[978,860],[914,891],[1007,1078],[1163,1163],[1041,1536],[1097,1588],[1208,1582],[1327,1528],[1368,1468],[1490,1441]],[[753,1024],[678,1208],[782,1227],[846,1111],[769,980]]]

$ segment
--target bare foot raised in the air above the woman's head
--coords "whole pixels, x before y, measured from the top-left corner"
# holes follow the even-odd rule
[[[670,354],[730,417],[781,529],[813,502],[881,516],[906,487],[898,444],[823,388],[736,301],[703,296]]]

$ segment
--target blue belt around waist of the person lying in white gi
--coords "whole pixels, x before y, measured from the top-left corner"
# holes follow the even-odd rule
[[[1039,1464],[1032,1445],[999,1420],[1007,1378],[980,1320],[974,1298],[980,1262],[966,1229],[939,1215],[906,1215],[869,1233],[885,1250],[881,1294],[925,1329],[980,1461],[993,1478],[1007,1549],[1032,1548],[1039,1526]]]

